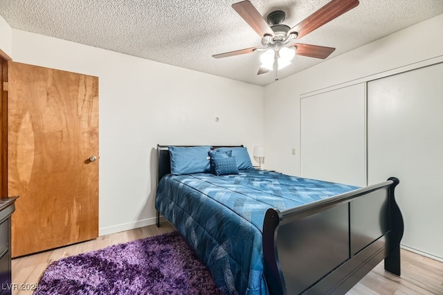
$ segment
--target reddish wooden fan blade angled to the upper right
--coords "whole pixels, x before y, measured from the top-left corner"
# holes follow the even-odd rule
[[[312,15],[309,15],[309,17],[302,20],[300,24],[291,28],[287,35],[289,36],[289,34],[297,32],[297,38],[301,38],[311,33],[313,30],[320,28],[320,26],[327,24],[329,21],[332,21],[332,19],[355,8],[359,3],[359,0],[332,0]]]

